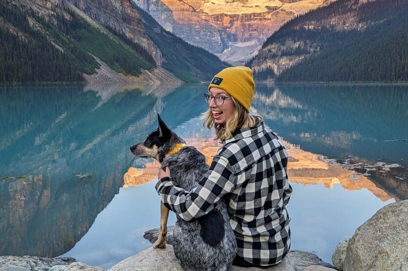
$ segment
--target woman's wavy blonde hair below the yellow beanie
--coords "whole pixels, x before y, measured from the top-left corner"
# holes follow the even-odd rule
[[[202,119],[204,119],[204,126],[208,129],[212,127],[215,128],[215,139],[221,142],[232,137],[232,133],[236,129],[249,128],[258,125],[262,118],[259,116],[249,115],[244,106],[238,103],[233,97],[232,101],[235,104],[234,111],[231,116],[227,119],[225,125],[216,124],[214,117],[211,112],[211,108],[208,108],[206,112],[202,114]]]

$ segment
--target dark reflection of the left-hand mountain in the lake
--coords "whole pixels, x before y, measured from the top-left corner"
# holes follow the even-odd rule
[[[157,113],[174,115],[167,123],[175,127],[204,111],[201,85],[109,86],[106,100],[90,90],[0,88],[0,175],[23,176],[0,179],[0,254],[51,257],[71,249],[118,193],[133,163],[129,146],[155,127]]]

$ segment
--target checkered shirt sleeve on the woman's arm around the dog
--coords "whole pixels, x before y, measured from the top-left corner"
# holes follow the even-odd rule
[[[198,186],[191,191],[174,186],[171,178],[161,178],[156,189],[164,205],[186,221],[210,212],[225,194],[236,187],[236,177],[227,158],[216,155]]]

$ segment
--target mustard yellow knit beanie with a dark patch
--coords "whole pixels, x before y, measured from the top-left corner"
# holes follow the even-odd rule
[[[238,66],[223,69],[214,76],[208,90],[211,87],[218,87],[227,91],[249,113],[255,91],[252,70],[249,67]]]

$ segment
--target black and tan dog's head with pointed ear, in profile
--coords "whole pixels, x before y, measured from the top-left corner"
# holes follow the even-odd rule
[[[130,147],[134,155],[141,158],[154,158],[159,163],[178,144],[184,144],[184,140],[171,131],[157,114],[159,127],[147,135],[143,142]]]

